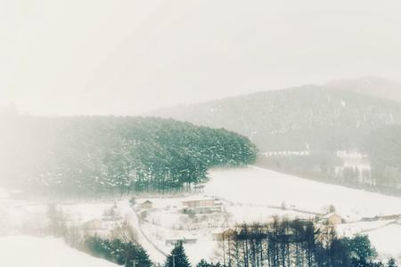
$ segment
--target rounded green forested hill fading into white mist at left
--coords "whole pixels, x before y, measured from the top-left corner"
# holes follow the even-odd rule
[[[211,166],[254,162],[246,137],[147,117],[3,116],[2,185],[100,194],[189,189]]]

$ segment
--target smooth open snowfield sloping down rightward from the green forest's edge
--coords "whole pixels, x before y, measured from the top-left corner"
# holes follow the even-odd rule
[[[233,203],[270,206],[285,203],[313,213],[322,213],[325,206],[333,205],[348,221],[401,214],[401,198],[315,182],[256,166],[213,170],[209,176],[205,194]]]

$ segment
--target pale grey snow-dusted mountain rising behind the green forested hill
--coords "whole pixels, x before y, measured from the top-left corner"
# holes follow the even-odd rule
[[[262,152],[359,149],[373,129],[401,124],[401,104],[397,101],[363,93],[362,85],[338,85],[304,85],[160,109],[151,114],[224,127],[250,137]]]

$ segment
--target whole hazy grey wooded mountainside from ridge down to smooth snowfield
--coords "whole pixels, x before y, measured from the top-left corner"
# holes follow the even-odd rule
[[[379,82],[372,85],[374,90],[387,85]],[[366,143],[389,144],[384,141],[388,137],[400,139],[401,135],[389,126],[401,125],[401,103],[378,97],[371,87],[364,92],[362,85],[335,85],[253,93],[152,114],[244,134],[258,145],[258,166],[401,194],[397,190],[401,187],[401,173],[384,159],[389,150],[381,146],[366,149]],[[387,129],[383,131],[388,134],[372,135],[381,128]],[[393,182],[389,183],[389,179]]]

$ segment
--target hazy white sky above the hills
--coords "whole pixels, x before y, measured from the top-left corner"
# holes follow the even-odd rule
[[[34,114],[399,80],[401,1],[2,0],[0,102]]]

